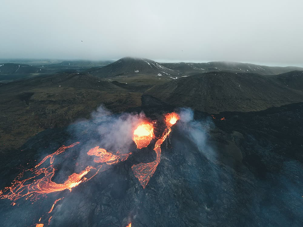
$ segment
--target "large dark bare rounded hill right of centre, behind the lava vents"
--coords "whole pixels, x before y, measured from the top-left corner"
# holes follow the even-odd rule
[[[258,111],[301,102],[303,93],[258,74],[210,72],[155,85],[145,92],[208,113]]]

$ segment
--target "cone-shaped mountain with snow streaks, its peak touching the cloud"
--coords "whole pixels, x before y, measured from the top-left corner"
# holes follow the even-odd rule
[[[98,77],[107,78],[121,75],[135,75],[135,74],[148,74],[148,75],[163,75],[171,76],[178,74],[174,70],[169,69],[158,62],[146,58],[121,58],[112,64],[102,68],[93,69],[89,71]]]

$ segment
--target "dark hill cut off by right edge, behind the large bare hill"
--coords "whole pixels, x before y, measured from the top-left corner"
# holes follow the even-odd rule
[[[303,71],[291,71],[269,78],[290,88],[303,90]]]

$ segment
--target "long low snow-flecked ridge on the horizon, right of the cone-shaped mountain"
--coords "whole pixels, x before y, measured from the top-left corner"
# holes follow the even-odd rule
[[[271,67],[265,65],[256,65],[240,62],[228,61],[212,61],[207,63],[162,63],[163,66],[172,70],[179,71],[184,75],[195,75],[198,73],[211,71],[225,71],[238,73],[258,73],[260,75],[277,75],[294,70],[302,71],[302,67],[288,66],[288,67]]]

